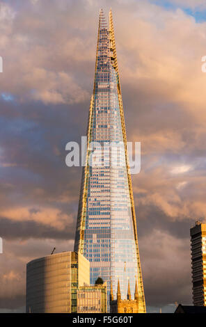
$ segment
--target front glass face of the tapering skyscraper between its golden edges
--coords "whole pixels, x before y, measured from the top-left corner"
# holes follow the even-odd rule
[[[90,261],[90,282],[101,276],[109,286],[112,278],[116,293],[119,278],[122,298],[126,298],[128,279],[134,294],[137,261],[117,79],[110,34],[102,16],[90,141],[104,145],[104,152],[95,147],[95,154],[90,154],[90,160],[102,166],[97,163],[89,168],[84,255]],[[111,164],[113,152],[106,147],[111,141],[114,147],[122,144],[116,165]]]

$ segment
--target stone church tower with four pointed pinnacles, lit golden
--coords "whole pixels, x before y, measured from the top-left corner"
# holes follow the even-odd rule
[[[128,281],[128,289],[127,289],[127,299],[121,298],[120,291],[120,282],[118,280],[118,292],[116,296],[116,300],[113,299],[113,289],[111,285],[111,293],[110,293],[110,312],[111,313],[138,313],[138,287],[137,282],[135,282],[135,292],[134,299],[132,299],[130,292],[130,285]]]

